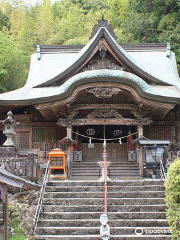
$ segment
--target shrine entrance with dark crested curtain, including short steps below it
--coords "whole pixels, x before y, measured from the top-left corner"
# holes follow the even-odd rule
[[[72,179],[74,180],[97,180],[101,176],[101,168],[97,162],[103,160],[104,134],[106,142],[107,159],[111,162],[108,167],[108,177],[116,179],[139,178],[139,165],[137,159],[129,159],[129,132],[135,133],[136,126],[127,125],[84,125],[73,127],[73,139],[76,139],[77,146],[72,167]],[[135,139],[137,136],[134,135]],[[121,139],[121,141],[120,141]],[[131,138],[131,140],[133,140]],[[131,141],[132,143],[133,141]],[[133,145],[132,145],[133,147]]]

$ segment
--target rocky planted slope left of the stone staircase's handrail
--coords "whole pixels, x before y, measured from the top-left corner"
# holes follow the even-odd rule
[[[33,239],[38,192],[23,189],[8,196],[9,240]]]

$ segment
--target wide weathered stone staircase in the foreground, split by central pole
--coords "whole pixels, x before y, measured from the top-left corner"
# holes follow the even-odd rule
[[[35,234],[37,240],[99,240],[103,183],[49,182]],[[108,183],[108,217],[114,240],[170,240],[164,182],[125,180]],[[142,228],[143,235],[136,235]],[[141,229],[140,229],[141,230]]]

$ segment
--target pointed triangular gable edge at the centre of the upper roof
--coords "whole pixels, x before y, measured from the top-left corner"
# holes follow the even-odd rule
[[[101,39],[105,39],[112,50],[116,53],[117,57],[123,61],[123,63],[130,69],[133,69],[135,74],[140,76],[141,78],[148,80],[150,83],[156,83],[159,85],[173,85],[170,82],[165,82],[163,79],[155,76],[149,69],[146,69],[143,65],[137,62],[129,53],[127,53],[111,36],[108,30],[104,27],[101,27],[96,35],[91,39],[91,41],[78,53],[76,56],[73,56],[73,60],[69,62],[65,66],[64,69],[59,70],[59,74],[54,76],[53,78],[47,80],[43,83],[38,83],[34,87],[45,87],[56,85],[57,81],[61,79],[68,79],[72,77],[77,71],[77,69],[81,68],[84,61],[88,59],[90,53],[94,51],[97,44]]]

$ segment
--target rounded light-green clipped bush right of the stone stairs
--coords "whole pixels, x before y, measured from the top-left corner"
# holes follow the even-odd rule
[[[171,164],[166,181],[167,219],[173,240],[180,239],[180,159]]]

